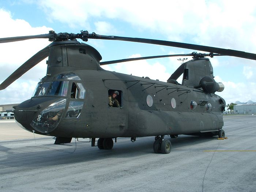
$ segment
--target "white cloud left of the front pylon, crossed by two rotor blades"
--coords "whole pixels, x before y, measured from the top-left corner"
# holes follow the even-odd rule
[[[46,34],[49,33],[49,30],[52,30],[45,26],[31,27],[25,20],[12,19],[10,11],[3,9],[0,9],[0,18],[0,25],[4,26],[4,30],[0,30],[1,38]],[[48,39],[30,39],[1,43],[0,83],[35,53],[49,45],[49,43]],[[39,78],[45,76],[46,67],[45,60],[43,60],[7,87],[7,89],[1,90],[0,103],[18,103],[30,98],[37,84],[36,82],[39,81]]]

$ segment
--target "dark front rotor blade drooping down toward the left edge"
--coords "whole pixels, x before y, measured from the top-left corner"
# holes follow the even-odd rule
[[[0,90],[5,89],[10,84],[12,84],[16,79],[20,78],[29,69],[37,65],[40,61],[44,60],[49,55],[49,45],[44,49],[37,52],[33,57],[27,60],[23,65],[21,65],[16,71],[14,71],[3,83],[0,84]]]

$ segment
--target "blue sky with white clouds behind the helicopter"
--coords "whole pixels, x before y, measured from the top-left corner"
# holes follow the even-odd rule
[[[251,0],[0,0],[0,26],[0,38],[47,34],[49,30],[56,33],[87,30],[101,35],[159,39],[256,53],[256,1]],[[197,51],[99,39],[89,39],[86,43],[99,51],[101,61]],[[0,83],[49,44],[48,39],[1,43]],[[183,57],[132,61],[102,68],[166,82],[181,64],[180,58]],[[1,90],[0,104],[30,99],[37,83],[46,74],[46,60]],[[224,91],[216,94],[223,97],[226,104],[256,101],[256,61],[231,56],[214,57],[210,61],[215,81],[225,85]]]

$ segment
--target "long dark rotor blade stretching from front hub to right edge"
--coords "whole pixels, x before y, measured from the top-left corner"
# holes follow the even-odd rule
[[[106,36],[106,35],[98,35],[95,33],[90,34],[88,38],[130,41],[130,42],[139,42],[139,43],[147,43],[147,44],[155,44],[155,45],[172,46],[172,47],[200,50],[200,51],[205,51],[205,52],[224,54],[227,56],[234,56],[234,57],[241,57],[241,58],[245,58],[245,59],[256,60],[256,54],[254,54],[254,53],[247,53],[247,52],[238,51],[238,50],[216,48],[216,47],[210,47],[210,46],[204,46],[204,45],[186,44],[186,43],[181,43],[181,42],[162,41],[162,40],[156,40],[156,39]]]

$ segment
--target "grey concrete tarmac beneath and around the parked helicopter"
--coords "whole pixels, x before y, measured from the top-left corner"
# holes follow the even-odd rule
[[[117,138],[112,150],[33,133],[4,140],[16,125],[1,122],[0,191],[255,191],[256,116],[224,121],[228,139],[180,135],[170,154],[154,153],[154,137]]]

